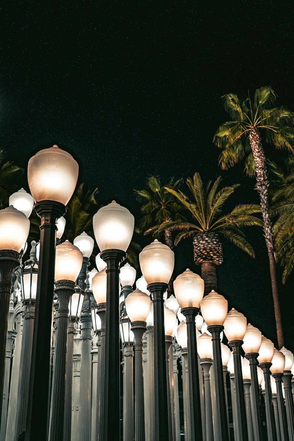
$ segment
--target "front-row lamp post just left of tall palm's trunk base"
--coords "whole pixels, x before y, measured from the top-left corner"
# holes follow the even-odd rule
[[[261,336],[261,347],[257,357],[259,366],[264,373],[264,394],[265,394],[265,415],[267,422],[268,441],[276,441],[275,420],[272,408],[272,390],[270,367],[272,366],[272,357],[274,355],[274,344],[264,336]]]

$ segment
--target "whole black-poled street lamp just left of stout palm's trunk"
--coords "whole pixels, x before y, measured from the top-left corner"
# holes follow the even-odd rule
[[[204,280],[190,269],[186,269],[174,280],[174,291],[187,323],[191,438],[194,439],[198,433],[201,441],[202,432],[198,430],[201,426],[201,404],[195,318],[199,314],[199,306],[203,299]]]

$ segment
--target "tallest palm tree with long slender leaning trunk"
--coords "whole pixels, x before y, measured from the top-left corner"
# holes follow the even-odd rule
[[[283,329],[275,268],[274,241],[268,201],[268,171],[262,140],[278,149],[293,150],[294,114],[287,108],[273,107],[275,92],[269,86],[255,91],[254,100],[242,100],[234,93],[223,96],[224,107],[231,120],[223,123],[214,135],[214,142],[222,150],[220,164],[229,168],[245,157],[245,171],[256,177],[259,193],[264,237],[268,249],[272,280],[272,295],[279,347],[283,346]]]

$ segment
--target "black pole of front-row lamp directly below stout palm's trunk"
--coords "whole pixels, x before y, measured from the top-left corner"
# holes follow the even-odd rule
[[[226,397],[223,383],[223,362],[220,347],[220,333],[223,331],[222,325],[211,325],[207,330],[212,335],[212,352],[213,352],[213,371],[216,389],[216,433],[217,440],[229,441],[229,433],[227,426]],[[245,441],[245,440],[244,440]]]

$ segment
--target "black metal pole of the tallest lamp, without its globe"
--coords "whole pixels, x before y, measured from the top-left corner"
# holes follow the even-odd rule
[[[41,236],[26,441],[45,441],[48,439],[56,221],[66,213],[66,207],[60,202],[41,201],[35,204],[34,210],[41,218]]]

